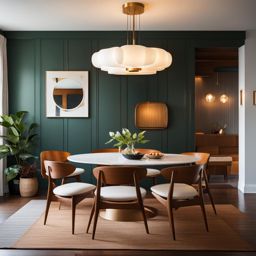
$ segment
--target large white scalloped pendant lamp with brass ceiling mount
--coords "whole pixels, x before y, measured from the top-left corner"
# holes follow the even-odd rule
[[[123,5],[123,13],[132,18],[131,42],[95,52],[92,55],[93,66],[113,75],[153,75],[172,64],[169,52],[136,44],[135,16],[143,12],[142,3],[128,2]]]

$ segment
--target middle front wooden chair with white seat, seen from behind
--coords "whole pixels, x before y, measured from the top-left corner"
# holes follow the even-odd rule
[[[139,187],[139,182],[146,177],[146,173],[147,170],[141,167],[99,166],[94,168],[93,175],[97,179],[97,190],[86,231],[88,233],[94,216],[92,239],[95,237],[100,209],[108,208],[139,209],[143,217],[146,232],[149,233],[143,205],[146,190]],[[104,186],[102,186],[103,184]]]

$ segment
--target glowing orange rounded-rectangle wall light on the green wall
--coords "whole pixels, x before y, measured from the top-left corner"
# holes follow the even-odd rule
[[[168,126],[168,108],[165,103],[142,102],[135,108],[135,125],[140,129],[164,129]]]

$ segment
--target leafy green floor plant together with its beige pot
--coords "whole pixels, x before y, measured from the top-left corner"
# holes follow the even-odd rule
[[[4,143],[0,145],[0,159],[13,156],[15,164],[5,169],[9,188],[13,180],[20,178],[19,186],[22,196],[33,196],[38,190],[36,178],[36,159],[31,154],[34,139],[37,134],[36,123],[28,125],[24,118],[28,112],[19,111],[11,115],[1,115],[0,125],[4,127],[4,134],[1,135]]]

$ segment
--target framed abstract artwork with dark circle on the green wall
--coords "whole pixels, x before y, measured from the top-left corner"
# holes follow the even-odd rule
[[[88,116],[88,71],[46,71],[46,117]]]

